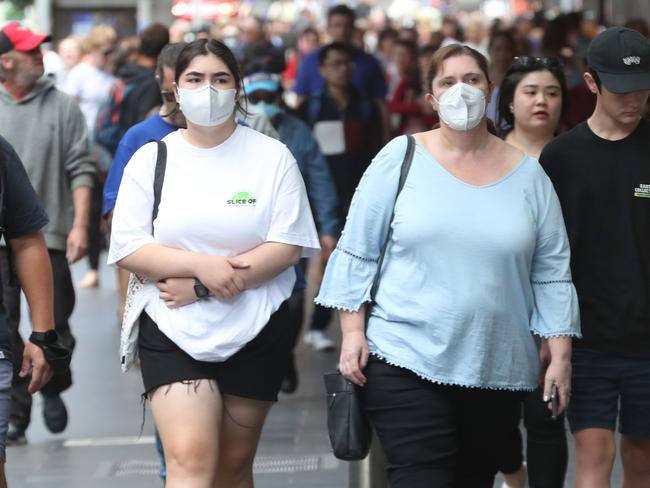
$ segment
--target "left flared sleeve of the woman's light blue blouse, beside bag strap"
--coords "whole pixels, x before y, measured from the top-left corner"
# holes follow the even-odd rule
[[[356,312],[370,301],[406,146],[405,136],[393,139],[361,178],[341,238],[327,263],[317,304]]]

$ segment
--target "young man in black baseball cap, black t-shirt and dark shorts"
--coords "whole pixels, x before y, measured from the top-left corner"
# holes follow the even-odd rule
[[[587,53],[586,122],[540,163],[562,204],[582,339],[574,339],[575,486],[611,486],[618,425],[625,487],[650,487],[650,42],[611,27]]]

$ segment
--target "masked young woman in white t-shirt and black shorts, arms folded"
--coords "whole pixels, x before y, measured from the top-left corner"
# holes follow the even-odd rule
[[[152,223],[152,143],[125,169],[109,263],[157,283],[145,285],[138,353],[166,486],[248,488],[291,350],[292,265],[317,252],[318,236],[289,150],[235,122],[232,52],[192,42],[175,80],[187,129],[163,139],[158,216]],[[201,285],[209,296],[198,298]]]

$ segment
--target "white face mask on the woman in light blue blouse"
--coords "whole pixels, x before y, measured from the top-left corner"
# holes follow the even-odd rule
[[[485,94],[467,83],[456,83],[434,100],[440,119],[454,130],[473,129],[485,115]]]

